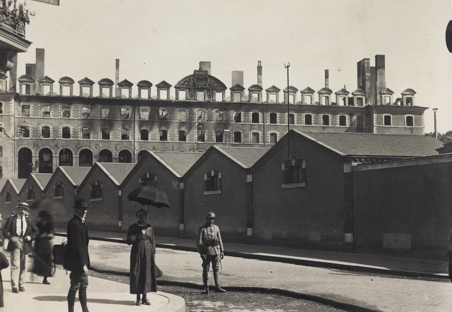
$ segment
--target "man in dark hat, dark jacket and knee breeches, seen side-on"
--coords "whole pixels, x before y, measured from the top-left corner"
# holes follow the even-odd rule
[[[88,229],[85,224],[89,205],[85,199],[76,199],[75,216],[67,224],[67,246],[64,255],[63,268],[71,271],[71,287],[67,293],[69,312],[74,312],[75,294],[79,291],[79,300],[83,312],[88,312],[86,306],[86,288],[88,287]]]

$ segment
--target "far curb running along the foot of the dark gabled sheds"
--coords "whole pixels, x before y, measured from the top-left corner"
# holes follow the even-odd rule
[[[55,233],[55,235],[56,236],[66,236],[66,234],[61,234],[61,233]],[[113,243],[127,244],[127,241],[125,241],[125,240],[118,240],[118,239],[111,239],[111,238],[104,238],[104,237],[89,236],[89,239],[94,240],[94,241],[108,241],[108,242],[113,242]],[[169,245],[169,244],[155,244],[155,246],[158,248],[167,248],[167,249],[180,250],[180,251],[198,252],[197,248],[188,247],[188,246],[176,246],[176,245]],[[354,271],[354,272],[396,275],[396,276],[403,276],[403,277],[428,277],[428,278],[433,278],[433,279],[449,279],[449,276],[447,276],[447,275],[439,275],[439,274],[433,274],[433,273],[404,271],[404,270],[391,270],[391,269],[379,269],[379,268],[372,268],[372,267],[360,266],[360,265],[345,265],[345,264],[334,263],[334,262],[303,260],[303,259],[279,257],[279,256],[272,256],[272,255],[255,255],[255,254],[249,254],[249,253],[245,253],[245,252],[236,252],[236,251],[225,251],[225,255],[231,256],[231,257],[245,258],[245,259],[273,261],[273,262],[288,263],[288,264],[293,264],[293,265],[312,266],[312,267],[318,267],[318,268],[342,269],[342,270]]]

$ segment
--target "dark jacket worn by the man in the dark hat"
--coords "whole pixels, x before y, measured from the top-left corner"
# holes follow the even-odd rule
[[[63,268],[69,271],[89,269],[88,229],[78,216],[74,216],[67,224],[67,246],[64,254]]]

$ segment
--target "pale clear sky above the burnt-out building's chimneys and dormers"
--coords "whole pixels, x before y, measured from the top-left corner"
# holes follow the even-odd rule
[[[450,0],[60,0],[59,6],[26,0],[26,8],[35,14],[26,26],[32,45],[18,56],[18,76],[44,48],[54,90],[63,76],[114,81],[119,59],[119,81],[135,84],[132,95],[140,80],[175,85],[199,61],[211,61],[211,75],[227,88],[231,71],[244,71],[245,88],[256,84],[261,61],[264,89],[284,89],[290,63],[289,84],[298,90],[323,88],[328,69],[333,92],[344,85],[353,92],[357,62],[369,58],[375,66],[375,55],[383,54],[393,99],[414,89],[415,104],[429,108],[425,132],[433,132],[432,108],[438,132],[452,130]]]

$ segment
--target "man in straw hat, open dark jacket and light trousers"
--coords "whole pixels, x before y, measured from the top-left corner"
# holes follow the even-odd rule
[[[17,213],[6,220],[3,236],[9,239],[7,251],[11,252],[11,288],[13,293],[25,291],[28,253],[32,251],[31,241],[38,236],[38,227],[30,218],[28,203],[19,203]]]

